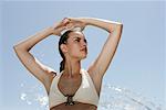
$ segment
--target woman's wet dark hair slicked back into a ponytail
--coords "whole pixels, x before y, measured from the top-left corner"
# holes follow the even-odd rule
[[[69,34],[73,32],[73,31],[66,31],[65,33],[63,33],[60,37],[60,41],[59,41],[59,52],[60,52],[60,55],[61,57],[63,58],[62,62],[60,63],[60,73],[64,69],[64,64],[65,64],[65,57],[64,57],[64,54],[63,52],[61,51],[61,44],[65,44],[68,38],[69,38]]]

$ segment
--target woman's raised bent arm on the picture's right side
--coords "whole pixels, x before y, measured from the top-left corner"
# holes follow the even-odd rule
[[[102,52],[98,54],[97,58],[92,63],[92,65],[87,69],[100,94],[102,78],[116,52],[123,25],[118,22],[94,18],[71,18],[71,20],[73,20],[73,22],[75,23],[77,22],[77,25],[81,24],[79,22],[83,22],[85,23],[85,25],[97,26],[108,32],[108,37],[102,48]]]

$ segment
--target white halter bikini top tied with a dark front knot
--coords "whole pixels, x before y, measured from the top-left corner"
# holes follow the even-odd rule
[[[49,92],[49,107],[55,107],[60,103],[64,103],[68,100],[68,97],[59,90],[58,82],[62,75],[62,72],[55,76],[52,80],[50,92]],[[91,79],[89,73],[84,69],[81,69],[82,82],[75,95],[73,96],[73,101],[79,101],[83,103],[91,103],[97,107],[98,95],[96,92],[93,80]]]

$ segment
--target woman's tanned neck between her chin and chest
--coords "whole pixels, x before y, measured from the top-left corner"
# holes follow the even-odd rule
[[[73,77],[80,74],[81,69],[81,62],[80,61],[73,61],[73,59],[66,59],[65,66],[64,66],[64,74],[69,77]]]

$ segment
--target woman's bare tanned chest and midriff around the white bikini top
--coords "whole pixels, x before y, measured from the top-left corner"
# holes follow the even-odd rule
[[[58,82],[59,90],[65,95],[74,95],[82,82],[82,75],[77,75],[73,78],[68,78],[62,74]],[[91,103],[75,102],[73,106],[65,106],[65,102],[52,107],[50,110],[96,110],[97,107]]]

